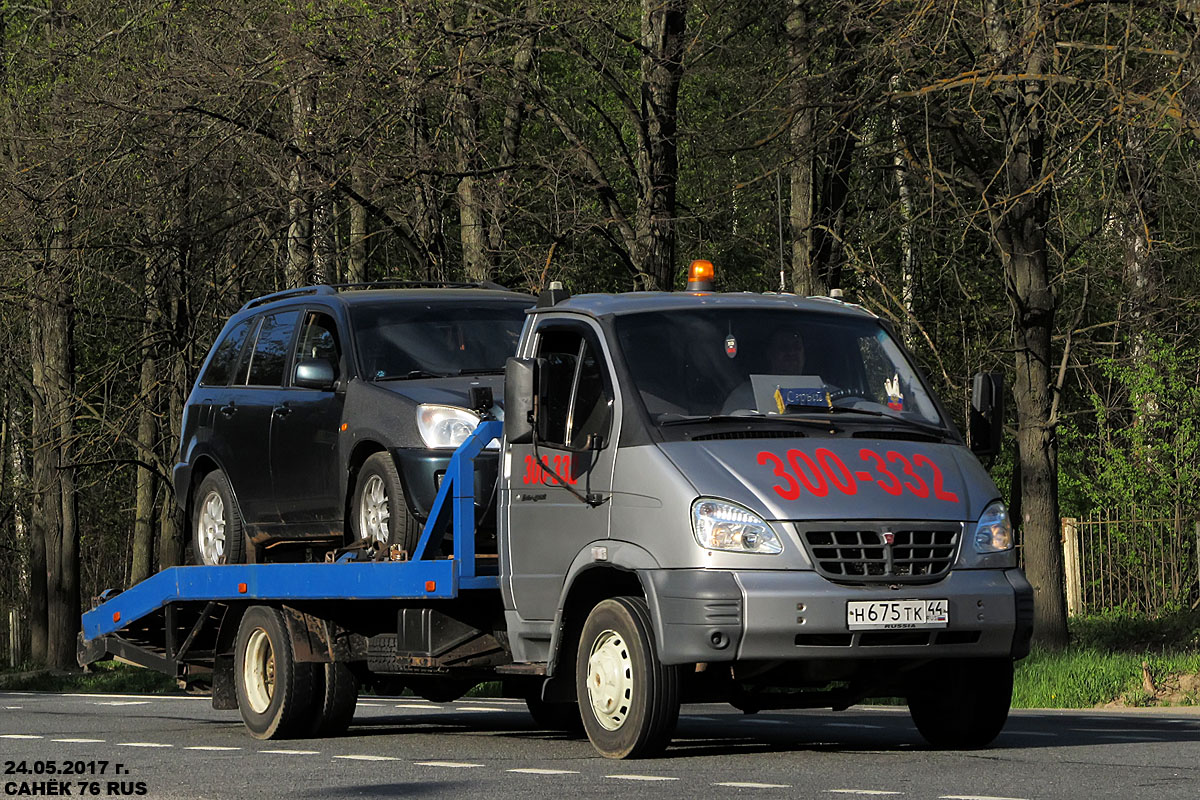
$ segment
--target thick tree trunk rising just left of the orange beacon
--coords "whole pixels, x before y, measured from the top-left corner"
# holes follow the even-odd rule
[[[676,191],[679,182],[679,84],[688,0],[642,0],[640,198],[634,263],[652,288],[674,288]]]

